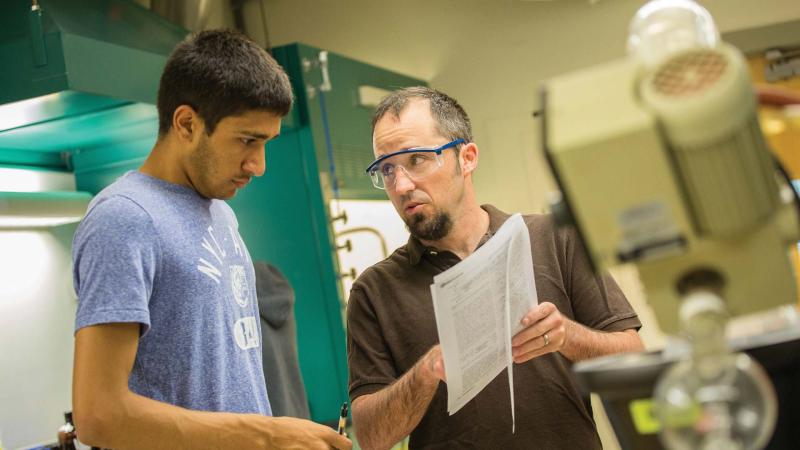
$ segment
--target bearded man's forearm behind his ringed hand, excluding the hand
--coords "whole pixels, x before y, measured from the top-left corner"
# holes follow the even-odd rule
[[[571,361],[644,350],[644,345],[635,330],[604,332],[592,330],[568,320],[564,345],[560,352]]]

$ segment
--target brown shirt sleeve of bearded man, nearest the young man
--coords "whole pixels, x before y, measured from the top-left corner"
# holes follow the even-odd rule
[[[359,287],[350,291],[347,302],[347,366],[351,402],[383,389],[399,376],[369,295]]]

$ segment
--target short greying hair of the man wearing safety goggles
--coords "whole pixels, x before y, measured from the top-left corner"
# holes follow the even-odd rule
[[[429,101],[431,115],[436,121],[436,130],[443,137],[451,141],[464,139],[466,142],[472,142],[472,124],[464,108],[444,92],[426,86],[408,87],[387,95],[372,115],[372,131],[375,131],[375,124],[386,114],[391,113],[395,117],[400,117],[403,108],[412,98]]]

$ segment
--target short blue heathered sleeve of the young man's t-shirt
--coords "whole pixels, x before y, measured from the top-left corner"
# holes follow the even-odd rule
[[[140,323],[150,328],[148,303],[160,248],[150,216],[125,197],[90,207],[72,245],[78,294],[75,332],[104,324]]]

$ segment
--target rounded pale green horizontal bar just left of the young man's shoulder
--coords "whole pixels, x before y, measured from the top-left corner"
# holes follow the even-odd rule
[[[88,192],[0,192],[0,229],[43,228],[78,222],[91,200]]]

